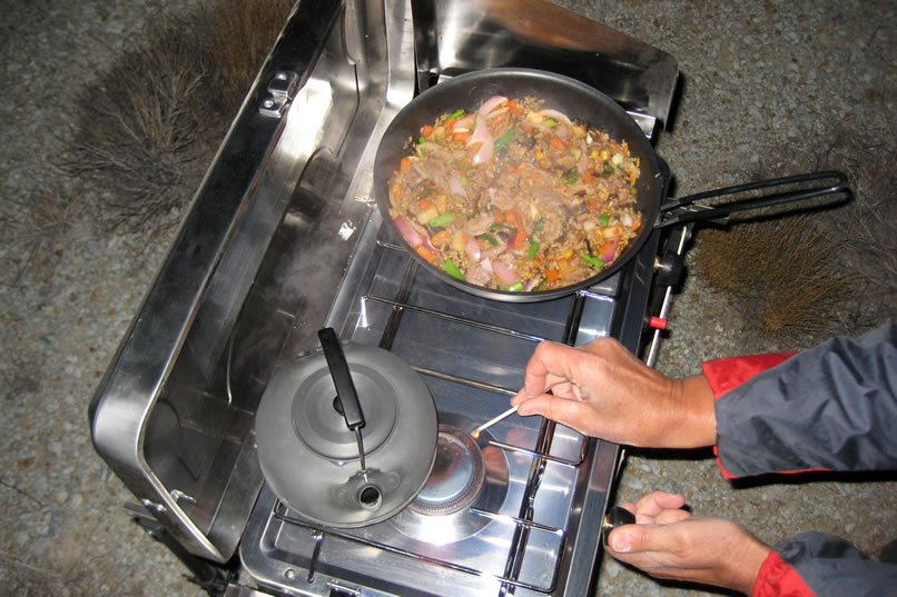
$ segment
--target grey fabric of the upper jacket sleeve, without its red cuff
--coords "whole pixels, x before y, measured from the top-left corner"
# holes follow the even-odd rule
[[[736,477],[897,469],[897,325],[796,355],[716,411],[718,456]]]

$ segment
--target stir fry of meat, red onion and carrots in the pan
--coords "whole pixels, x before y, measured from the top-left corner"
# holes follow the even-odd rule
[[[528,292],[591,278],[635,238],[639,158],[543,103],[495,96],[421,127],[388,182],[393,222],[421,257]]]

